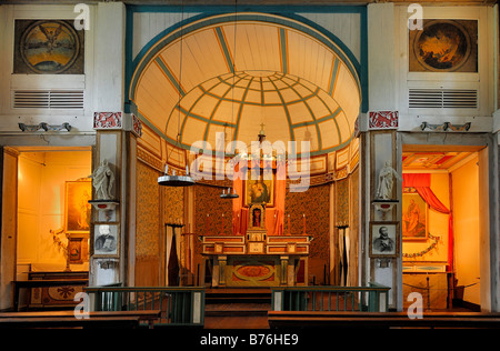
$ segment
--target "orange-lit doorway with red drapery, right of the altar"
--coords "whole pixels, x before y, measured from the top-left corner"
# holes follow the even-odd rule
[[[403,146],[403,307],[419,292],[424,310],[481,309],[480,174],[484,147]]]

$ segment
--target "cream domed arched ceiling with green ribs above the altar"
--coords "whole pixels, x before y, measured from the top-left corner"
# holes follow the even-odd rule
[[[182,148],[310,141],[311,154],[349,144],[361,103],[353,63],[328,38],[269,14],[214,17],[158,40],[143,56],[130,96],[157,133]]]

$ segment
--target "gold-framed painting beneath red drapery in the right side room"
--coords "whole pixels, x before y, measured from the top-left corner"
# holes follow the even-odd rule
[[[401,225],[403,240],[427,240],[428,205],[414,188],[403,191]]]

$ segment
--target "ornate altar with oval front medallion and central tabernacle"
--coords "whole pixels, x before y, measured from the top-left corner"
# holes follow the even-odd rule
[[[263,205],[252,205],[246,234],[201,235],[203,267],[216,287],[307,285],[311,237],[268,235]],[[206,272],[207,274],[207,272]]]

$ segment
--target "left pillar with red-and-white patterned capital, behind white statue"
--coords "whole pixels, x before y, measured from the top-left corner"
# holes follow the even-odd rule
[[[111,121],[111,122],[110,122]],[[96,112],[97,148],[92,169],[106,160],[114,177],[111,195],[114,204],[100,210],[94,205],[90,233],[90,283],[96,285],[121,282],[133,285],[136,248],[136,148],[140,123],[131,113]],[[97,194],[93,194],[97,199]],[[99,252],[93,247],[99,228],[109,225],[117,235],[118,248]]]

